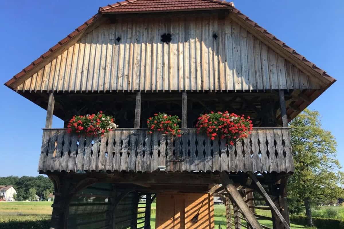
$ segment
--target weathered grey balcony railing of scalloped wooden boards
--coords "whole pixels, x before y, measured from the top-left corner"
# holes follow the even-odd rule
[[[254,128],[235,146],[210,140],[194,128],[182,132],[182,137],[172,138],[147,134],[147,129],[118,128],[100,138],[43,129],[38,171],[294,171],[288,128]]]

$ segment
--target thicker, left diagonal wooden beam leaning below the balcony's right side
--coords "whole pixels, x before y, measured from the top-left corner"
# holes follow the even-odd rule
[[[243,213],[244,217],[247,219],[247,221],[249,222],[251,227],[254,229],[262,229],[257,218],[250,211],[250,209],[248,208],[247,204],[245,203],[243,197],[240,195],[240,193],[238,192],[237,188],[235,187],[233,181],[231,179],[229,179],[229,177],[225,171],[220,174],[220,178],[222,180],[222,185],[225,186],[225,190],[232,197],[236,206],[238,206],[240,208],[241,213]]]

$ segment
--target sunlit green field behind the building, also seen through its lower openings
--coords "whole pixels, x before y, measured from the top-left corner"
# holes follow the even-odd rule
[[[38,221],[49,220],[52,212],[53,202],[0,202],[0,222],[1,221]],[[338,211],[338,215],[344,215],[344,207],[333,207]],[[320,211],[325,210],[322,207]],[[257,210],[257,214],[271,216],[270,211]],[[225,206],[214,205],[215,228],[221,224],[225,229]],[[272,228],[272,221],[259,220],[262,225]],[[155,228],[155,203],[152,204],[151,227]],[[291,229],[305,228],[301,225],[291,224]]]

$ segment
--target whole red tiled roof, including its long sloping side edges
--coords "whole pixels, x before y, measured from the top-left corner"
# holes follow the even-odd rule
[[[51,55],[51,53],[55,52],[61,46],[63,46],[67,41],[69,41],[72,37],[74,37],[79,32],[83,31],[87,26],[95,21],[95,19],[99,18],[101,14],[106,13],[124,13],[124,12],[151,12],[151,11],[182,11],[182,10],[196,10],[196,9],[216,9],[216,8],[231,8],[233,9],[233,13],[239,16],[241,19],[244,20],[245,23],[252,26],[252,28],[258,30],[266,37],[271,39],[273,42],[281,46],[283,49],[287,50],[291,55],[298,58],[304,64],[309,66],[311,69],[318,72],[322,77],[329,80],[331,83],[335,82],[335,79],[329,76],[323,69],[318,68],[313,64],[311,61],[304,58],[302,55],[296,52],[296,50],[287,46],[284,42],[277,39],[274,35],[267,32],[264,28],[259,26],[256,22],[250,20],[248,16],[241,13],[239,10],[234,8],[233,2],[226,2],[221,0],[126,0],[122,2],[117,2],[112,5],[107,5],[106,7],[100,7],[99,13],[94,15],[84,24],[76,28],[71,34],[67,37],[62,39],[58,42],[55,46],[50,48],[46,53],[42,54],[38,59],[33,61],[28,67],[24,68],[21,72],[15,75],[12,79],[5,83],[8,87],[15,81],[17,81],[20,77],[24,76],[26,72],[34,68],[37,64],[39,64],[43,59],[47,56]],[[14,88],[12,88],[14,89]]]

